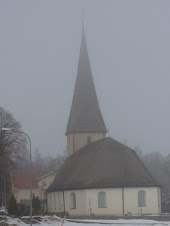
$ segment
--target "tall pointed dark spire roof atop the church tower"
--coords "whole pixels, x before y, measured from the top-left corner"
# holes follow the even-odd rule
[[[107,132],[96,95],[84,29],[66,135],[72,132]]]

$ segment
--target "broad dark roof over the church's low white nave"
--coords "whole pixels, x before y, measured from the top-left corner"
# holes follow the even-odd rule
[[[134,150],[105,138],[67,158],[47,191],[155,186]]]

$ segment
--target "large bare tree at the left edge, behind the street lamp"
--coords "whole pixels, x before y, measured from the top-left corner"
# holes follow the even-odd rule
[[[21,124],[14,119],[12,114],[0,107],[0,193],[3,193],[4,178],[8,193],[11,187],[10,172],[16,160],[20,159],[27,149],[26,139],[22,134],[2,131],[3,127],[16,131],[22,129]]]

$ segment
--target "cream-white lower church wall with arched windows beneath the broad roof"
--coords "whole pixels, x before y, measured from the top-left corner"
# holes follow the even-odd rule
[[[138,192],[145,191],[145,206],[138,206]],[[106,206],[99,208],[98,193],[105,192]],[[76,208],[72,208],[71,193],[76,196]],[[123,195],[124,194],[124,195]],[[48,193],[48,211],[53,213],[64,212],[63,192]],[[141,215],[160,214],[160,188],[110,188],[86,189],[64,192],[65,211],[70,216],[108,216],[108,215]],[[123,205],[124,204],[124,205]],[[124,212],[123,212],[124,210]]]

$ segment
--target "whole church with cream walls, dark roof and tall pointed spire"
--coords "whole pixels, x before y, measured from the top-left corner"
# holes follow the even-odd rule
[[[106,134],[83,29],[67,159],[47,189],[49,212],[73,217],[161,213],[158,182],[134,150]]]

